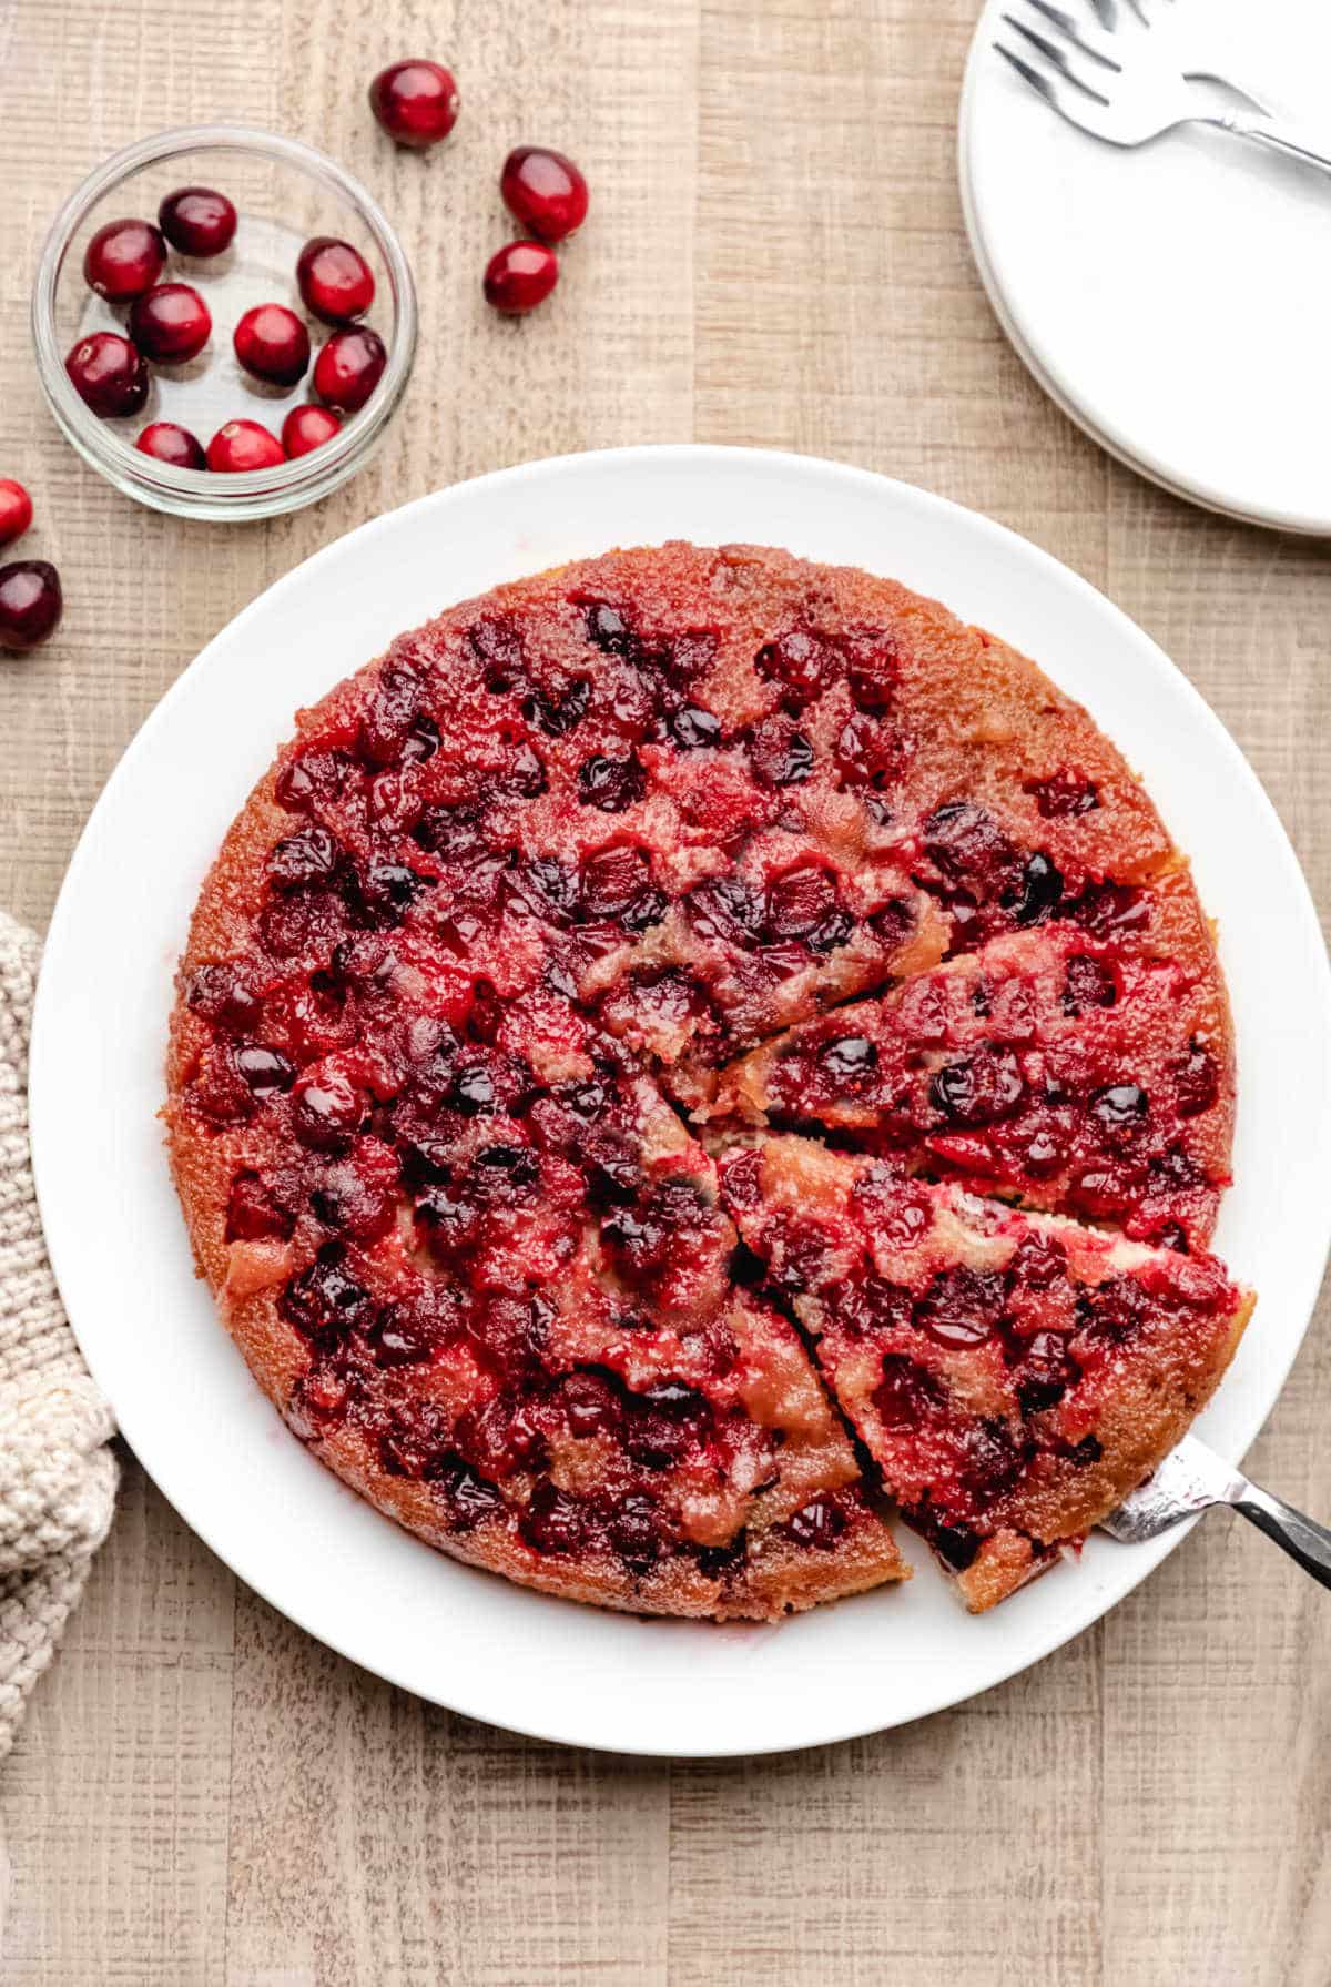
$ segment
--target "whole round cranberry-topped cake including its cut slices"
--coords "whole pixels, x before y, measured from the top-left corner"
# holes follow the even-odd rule
[[[256,1379],[431,1544],[644,1613],[971,1607],[1252,1309],[1188,866],[1089,715],[763,546],[465,602],[302,711],[205,882],[167,1127]]]

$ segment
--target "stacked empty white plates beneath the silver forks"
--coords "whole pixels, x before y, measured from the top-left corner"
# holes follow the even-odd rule
[[[1146,0],[1152,38],[1194,48],[1321,131],[1331,8]],[[1089,0],[1065,0],[1093,18]],[[1057,117],[993,50],[989,0],[965,68],[965,227],[999,324],[1035,380],[1142,475],[1232,517],[1331,533],[1331,177],[1218,131],[1136,151]],[[1124,36],[1138,34],[1124,18]],[[1035,60],[1035,58],[1033,58]]]

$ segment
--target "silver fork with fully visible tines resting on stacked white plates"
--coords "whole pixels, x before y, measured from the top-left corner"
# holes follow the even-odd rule
[[[1180,125],[1200,123],[1331,173],[1327,141],[1319,137],[1313,143],[1218,70],[1184,72],[1170,60],[1166,48],[1156,50],[1140,4],[1134,4],[1138,26],[1126,36],[1120,36],[1126,26],[1124,12],[1110,14],[1107,0],[1093,0],[1105,26],[1097,26],[1081,10],[1075,12],[1073,0],[1067,6],[1055,0],[1019,0],[1019,4],[1025,6],[1025,16],[1001,16],[1011,30],[1011,46],[1009,42],[993,46],[1017,76],[1079,131],[1107,145],[1132,147],[1148,145]],[[1220,83],[1250,107],[1220,109],[1206,83]]]

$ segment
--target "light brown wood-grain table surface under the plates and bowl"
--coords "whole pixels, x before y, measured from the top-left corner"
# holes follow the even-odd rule
[[[975,280],[954,145],[975,0],[0,0],[0,473],[68,612],[0,666],[0,902],[42,924],[121,749],[296,560],[477,471],[626,441],[769,443],[1001,519],[1118,600],[1230,725],[1331,908],[1331,558],[1204,517],[1029,382]],[[427,52],[429,159],[366,83]],[[377,465],[300,517],[185,527],[58,439],[38,242],[113,147],[230,115],[375,189],[421,282]],[[481,302],[511,143],[594,189],[526,324]],[[28,550],[28,546],[24,546]],[[95,1182],[89,1182],[95,1190]],[[1331,1510],[1327,1315],[1252,1456]],[[0,1774],[8,1987],[1325,1987],[1327,1596],[1216,1516],[1029,1675],[775,1760],[568,1753],[375,1683],[256,1600],[133,1460]],[[816,1685],[814,1685],[816,1687]]]

